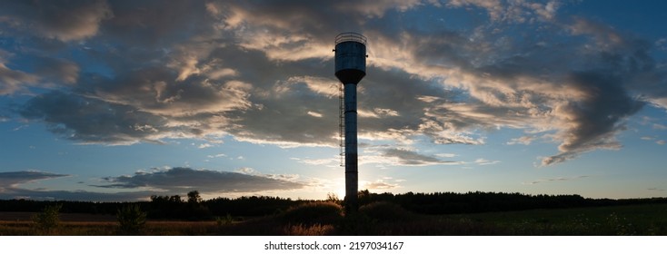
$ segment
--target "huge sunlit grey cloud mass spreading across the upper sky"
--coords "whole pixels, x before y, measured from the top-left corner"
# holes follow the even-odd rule
[[[630,116],[645,105],[667,108],[667,71],[651,54],[659,45],[562,17],[562,1],[351,3],[4,3],[0,25],[25,50],[0,54],[0,94],[65,84],[33,89],[19,112],[79,143],[232,136],[334,147],[332,31],[355,30],[369,38],[369,74],[359,85],[363,142],[479,145],[489,133],[515,129],[527,135],[508,144],[558,143],[543,157],[552,165],[621,149],[616,136]],[[457,29],[448,14],[459,8],[483,15]],[[443,22],[414,18],[426,10],[443,13]],[[534,36],[505,33],[516,29]],[[22,66],[28,58],[46,64]],[[453,162],[397,150],[374,155],[398,164]]]

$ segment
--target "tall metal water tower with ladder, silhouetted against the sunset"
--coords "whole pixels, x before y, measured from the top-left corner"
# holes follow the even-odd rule
[[[357,191],[359,173],[357,163],[356,85],[366,75],[366,37],[356,33],[338,34],[335,39],[335,75],[343,83],[341,96],[341,141],[344,138],[345,211],[359,208]],[[344,132],[343,132],[344,128]],[[343,148],[343,144],[341,144]]]

